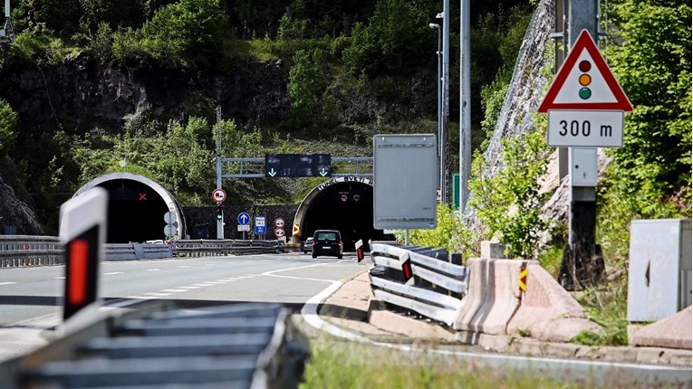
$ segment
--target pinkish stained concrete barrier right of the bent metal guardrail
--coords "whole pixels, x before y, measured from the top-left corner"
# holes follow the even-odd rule
[[[520,293],[520,268],[528,274]],[[567,342],[583,330],[602,331],[537,261],[470,260],[469,293],[454,328],[476,334],[522,335]]]

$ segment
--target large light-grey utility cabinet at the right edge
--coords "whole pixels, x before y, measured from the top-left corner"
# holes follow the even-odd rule
[[[630,223],[628,320],[669,318],[691,305],[690,219]]]

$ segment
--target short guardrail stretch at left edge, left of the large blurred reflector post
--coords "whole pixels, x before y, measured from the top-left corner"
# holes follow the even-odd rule
[[[57,265],[63,244],[55,236],[0,235],[0,268]]]

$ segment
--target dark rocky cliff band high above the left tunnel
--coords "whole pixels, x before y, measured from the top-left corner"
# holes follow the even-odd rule
[[[69,55],[50,68],[9,64],[0,73],[0,95],[17,111],[22,128],[59,125],[69,132],[102,128],[120,131],[145,108],[166,122],[201,115],[221,105],[226,117],[246,123],[280,118],[288,107],[288,70],[281,61],[235,60],[209,69],[137,69],[102,65],[90,53]]]

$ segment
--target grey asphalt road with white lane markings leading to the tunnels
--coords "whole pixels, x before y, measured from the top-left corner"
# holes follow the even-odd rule
[[[337,260],[303,253],[106,261],[99,296],[109,305],[186,299],[300,306],[364,266],[353,255]],[[40,331],[60,324],[64,272],[64,266],[0,270],[0,361],[43,345]]]

